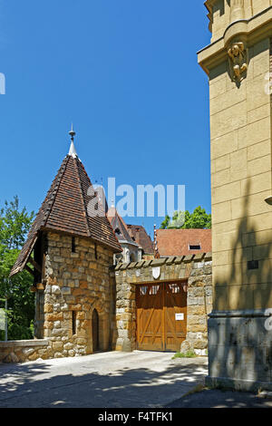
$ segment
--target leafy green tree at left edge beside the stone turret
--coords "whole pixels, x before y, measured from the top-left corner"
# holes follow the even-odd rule
[[[29,290],[33,278],[26,271],[8,278],[33,218],[34,212],[28,214],[26,208],[19,209],[17,197],[10,202],[5,201],[4,208],[0,209],[0,298],[8,299],[10,340],[33,337],[34,294]],[[0,339],[3,336],[1,333]]]

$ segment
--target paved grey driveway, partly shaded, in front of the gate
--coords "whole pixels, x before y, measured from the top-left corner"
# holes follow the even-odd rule
[[[207,358],[172,356],[108,352],[0,364],[0,407],[163,407],[207,375]]]

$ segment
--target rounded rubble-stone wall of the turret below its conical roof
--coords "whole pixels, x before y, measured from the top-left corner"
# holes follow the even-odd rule
[[[112,253],[90,238],[49,232],[45,256],[45,288],[37,295],[36,329],[48,340],[44,357],[93,352],[92,312],[99,315],[101,350],[111,348],[114,275]],[[39,315],[40,313],[40,315]]]

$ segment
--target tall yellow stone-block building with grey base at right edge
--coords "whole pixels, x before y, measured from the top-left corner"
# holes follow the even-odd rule
[[[213,386],[272,387],[271,0],[208,0]],[[271,310],[272,312],[272,310]]]

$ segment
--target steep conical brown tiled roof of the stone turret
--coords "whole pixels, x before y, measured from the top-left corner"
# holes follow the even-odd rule
[[[121,246],[102,206],[99,206],[99,215],[95,217],[88,215],[88,204],[94,198],[94,195],[88,196],[87,191],[90,187],[92,183],[81,160],[76,156],[67,155],[34,219],[10,276],[24,269],[38,233],[43,229],[92,237],[95,241],[110,247],[113,252],[121,252]]]

